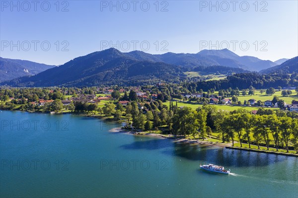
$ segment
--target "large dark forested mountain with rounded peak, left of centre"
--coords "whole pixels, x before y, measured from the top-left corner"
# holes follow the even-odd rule
[[[110,48],[43,71],[34,76],[17,78],[3,84],[12,86],[94,86],[101,84],[141,83],[161,78],[168,82],[185,76],[179,66],[138,61]]]

